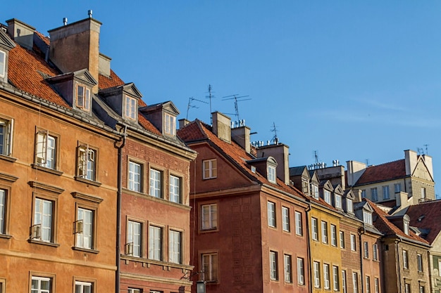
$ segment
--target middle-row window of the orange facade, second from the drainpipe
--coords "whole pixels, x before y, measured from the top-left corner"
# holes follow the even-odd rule
[[[44,242],[53,242],[54,202],[35,198],[34,222],[32,226],[32,239]]]

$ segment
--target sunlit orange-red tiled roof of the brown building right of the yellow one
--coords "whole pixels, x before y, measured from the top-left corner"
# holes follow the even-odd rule
[[[371,200],[368,200],[364,198],[366,202],[368,202],[371,207],[373,208],[374,214],[376,215],[375,221],[373,221],[373,226],[377,228],[381,233],[383,233],[385,236],[393,236],[397,235],[399,237],[404,237],[409,240],[414,240],[418,242],[422,242],[425,244],[428,244],[426,240],[423,238],[417,236],[414,232],[409,230],[409,235],[406,235],[403,230],[395,226],[391,221],[387,219],[387,216],[390,216],[389,214],[386,214],[385,211],[377,207],[377,205],[374,202],[371,202]]]

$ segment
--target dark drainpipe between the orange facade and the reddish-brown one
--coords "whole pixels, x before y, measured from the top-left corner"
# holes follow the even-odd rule
[[[120,141],[118,148],[118,193],[116,195],[116,278],[115,278],[115,292],[120,292],[120,242],[121,242],[121,197],[123,190],[123,148],[125,145],[125,138],[127,136],[127,126],[124,126],[123,139]]]

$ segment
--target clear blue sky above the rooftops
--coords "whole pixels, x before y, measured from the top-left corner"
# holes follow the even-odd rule
[[[47,31],[87,18],[103,23],[100,51],[135,82],[147,104],[189,98],[240,119],[268,141],[276,126],[290,166],[433,157],[441,172],[440,1],[5,1],[2,23],[18,18]],[[193,100],[190,120],[210,122]],[[439,188],[437,188],[439,189]]]

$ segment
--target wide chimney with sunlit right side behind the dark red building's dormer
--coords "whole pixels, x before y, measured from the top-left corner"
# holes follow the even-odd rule
[[[277,165],[277,176],[285,182],[286,185],[290,185],[290,147],[284,145],[283,143],[277,143],[273,145],[265,145],[263,147],[257,148],[257,157],[274,157],[278,162]]]

